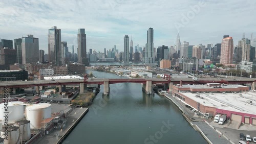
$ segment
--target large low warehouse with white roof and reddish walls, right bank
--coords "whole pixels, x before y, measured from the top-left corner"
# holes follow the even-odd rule
[[[232,123],[256,125],[256,93],[249,87],[208,83],[173,86],[173,96],[201,113],[226,114]]]

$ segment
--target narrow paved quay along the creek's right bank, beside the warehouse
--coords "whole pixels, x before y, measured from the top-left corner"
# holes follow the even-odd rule
[[[220,136],[216,130],[207,125],[203,118],[194,117],[194,113],[186,109],[184,104],[173,98],[172,95],[166,93],[164,96],[179,108],[179,110],[182,112],[182,115],[191,125],[191,127],[200,132],[208,143],[232,143],[225,137]],[[193,120],[193,122],[191,122],[191,120]]]

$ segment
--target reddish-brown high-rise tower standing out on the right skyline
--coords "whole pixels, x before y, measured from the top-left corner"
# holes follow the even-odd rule
[[[233,38],[226,37],[221,42],[221,64],[233,63]]]

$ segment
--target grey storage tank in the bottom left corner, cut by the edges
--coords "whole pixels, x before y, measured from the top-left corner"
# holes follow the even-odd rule
[[[19,143],[19,127],[9,125],[8,129],[2,129],[1,130],[1,137],[5,138],[4,143],[5,144],[13,144],[13,143]]]

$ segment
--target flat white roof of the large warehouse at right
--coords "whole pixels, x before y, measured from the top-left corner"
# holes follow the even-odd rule
[[[256,93],[240,92],[240,93],[191,93],[181,92],[186,97],[201,103],[204,106],[216,107],[218,109],[256,114]],[[200,99],[197,95],[200,95]],[[247,101],[251,100],[252,104]]]

